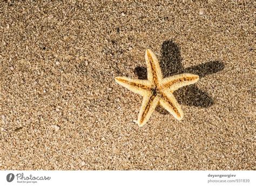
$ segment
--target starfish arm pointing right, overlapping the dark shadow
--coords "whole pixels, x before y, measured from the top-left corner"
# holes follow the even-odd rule
[[[195,74],[179,74],[173,75],[170,78],[164,78],[161,82],[161,89],[169,89],[176,91],[178,88],[194,84],[199,80],[199,76]]]

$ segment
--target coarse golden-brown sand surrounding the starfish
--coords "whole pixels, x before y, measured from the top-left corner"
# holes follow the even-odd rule
[[[1,2],[0,169],[255,170],[253,1]],[[114,77],[145,79],[151,49],[184,118]]]

